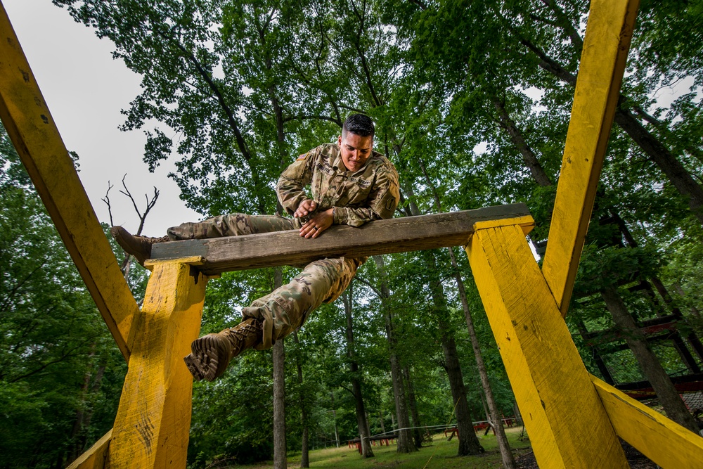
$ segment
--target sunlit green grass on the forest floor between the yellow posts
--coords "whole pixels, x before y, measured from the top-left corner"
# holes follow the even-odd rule
[[[510,447],[513,454],[520,456],[530,451],[529,441],[521,442],[519,437],[522,432],[520,428],[506,428]],[[479,442],[486,449],[486,452],[479,456],[456,456],[458,449],[458,439],[454,437],[451,442],[446,441],[443,433],[433,435],[433,442],[430,446],[425,446],[420,451],[410,454],[399,454],[396,452],[396,445],[372,446],[374,458],[363,459],[356,451],[356,447],[350,449],[346,444],[340,448],[316,449],[310,451],[311,468],[335,468],[335,469],[489,469],[501,468],[501,454],[498,451],[498,442],[491,433],[483,436],[483,432],[477,435]],[[300,454],[288,456],[288,467],[299,468]],[[273,463],[259,463],[257,465],[233,465],[230,468],[237,469],[271,469]]]

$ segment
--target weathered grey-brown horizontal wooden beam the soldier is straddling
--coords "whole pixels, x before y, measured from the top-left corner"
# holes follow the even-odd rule
[[[462,212],[372,221],[355,228],[332,226],[319,238],[307,239],[297,230],[184,240],[153,246],[154,259],[201,256],[205,274],[258,269],[278,265],[302,265],[324,257],[363,257],[391,252],[463,246],[474,224],[482,221],[520,219],[529,231],[534,224],[524,204],[484,207]]]

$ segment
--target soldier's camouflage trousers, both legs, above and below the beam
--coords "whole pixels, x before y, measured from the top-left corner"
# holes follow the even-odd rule
[[[196,223],[183,223],[168,229],[171,240],[220,238],[271,231],[299,229],[298,219],[276,215],[229,214]],[[323,235],[324,236],[324,235]],[[299,328],[309,314],[323,302],[337,299],[366,258],[321,259],[304,267],[288,285],[254,300],[242,309],[243,319],[259,319],[263,323],[264,339],[255,348],[269,349],[276,340]]]

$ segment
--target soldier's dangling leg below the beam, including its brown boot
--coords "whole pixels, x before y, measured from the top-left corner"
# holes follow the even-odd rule
[[[214,380],[229,361],[248,347],[268,349],[302,326],[311,311],[339,297],[366,259],[322,259],[308,264],[288,285],[242,310],[243,321],[191,345],[186,364],[195,379]]]

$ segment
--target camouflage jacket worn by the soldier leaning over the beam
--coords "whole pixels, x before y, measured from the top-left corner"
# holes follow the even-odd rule
[[[304,191],[307,185],[311,196]],[[335,224],[351,226],[391,218],[400,198],[398,172],[385,156],[374,151],[359,171],[347,171],[336,143],[300,155],[280,174],[276,193],[288,214],[310,198],[318,211],[335,207]]]

